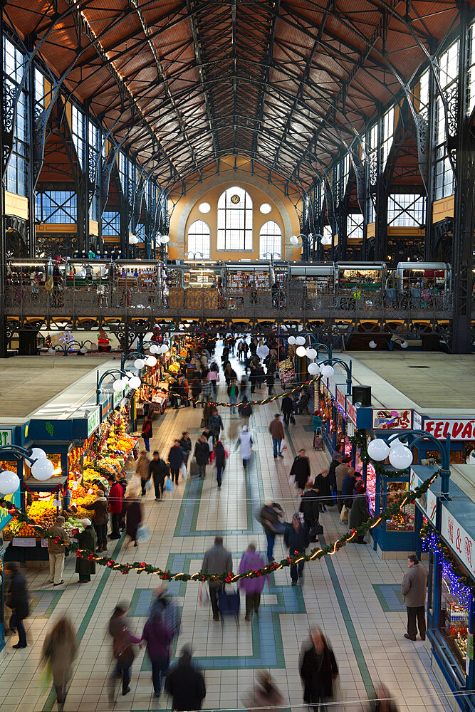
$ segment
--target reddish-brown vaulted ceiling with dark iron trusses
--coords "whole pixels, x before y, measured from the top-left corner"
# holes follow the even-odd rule
[[[301,191],[458,23],[449,0],[9,0],[4,19],[165,189],[243,155]]]

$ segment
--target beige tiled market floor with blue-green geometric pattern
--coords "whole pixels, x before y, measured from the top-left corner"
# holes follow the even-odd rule
[[[262,397],[264,390],[261,390]],[[224,399],[221,385],[219,399]],[[225,441],[231,456],[221,490],[216,487],[214,468],[208,468],[204,481],[180,481],[165,501],[155,502],[148,493],[144,502],[147,528],[152,536],[137,550],[122,540],[109,553],[118,561],[145,560],[173,571],[197,570],[204,550],[214,534],[225,536],[237,570],[241,553],[255,542],[265,551],[265,537],[255,518],[263,500],[280,502],[289,520],[298,508],[294,486],[288,483],[293,454],[307,446],[313,471],[327,464],[327,456],[311,451],[310,419],[298,417],[288,434],[288,449],[283,460],[275,461],[267,433],[275,404],[255,407],[250,429],[254,437],[254,458],[246,477],[235,443],[241,428],[238,416],[221,409]],[[169,411],[155,424],[152,446],[167,455],[174,436],[182,430],[199,433],[201,409]],[[325,540],[337,538],[342,525],[335,513],[321,518]],[[286,555],[282,540],[276,542],[276,558]],[[338,699],[340,710],[362,711],[372,698],[374,686],[384,682],[397,699],[400,712],[442,712],[442,691],[430,669],[430,656],[422,642],[404,639],[405,612],[397,595],[404,573],[404,562],[381,561],[370,546],[348,545],[333,557],[306,565],[302,587],[292,588],[288,570],[271,577],[264,590],[259,621],[234,621],[224,626],[214,623],[208,608],[199,607],[196,583],[174,582],[170,595],[176,597],[182,628],[177,647],[192,642],[194,654],[204,669],[207,697],[204,707],[235,710],[254,684],[256,671],[271,669],[285,705],[303,707],[298,656],[308,637],[310,624],[323,628],[333,646],[340,668]],[[28,585],[33,602],[27,620],[28,648],[11,649],[7,639],[0,653],[0,712],[48,712],[56,708],[54,694],[41,689],[41,645],[43,636],[62,614],[69,614],[78,629],[80,653],[65,711],[108,711],[107,678],[111,670],[111,644],[107,634],[110,613],[118,601],[131,603],[130,621],[137,634],[145,624],[152,590],[157,577],[131,573],[127,576],[98,567],[90,586],[78,586],[75,561],[69,557],[65,568],[66,585],[52,590],[45,570],[28,570]],[[169,698],[152,696],[150,664],[140,651],[132,673],[132,691],[118,697],[117,710],[161,710],[169,708]],[[329,707],[330,710],[337,707]]]

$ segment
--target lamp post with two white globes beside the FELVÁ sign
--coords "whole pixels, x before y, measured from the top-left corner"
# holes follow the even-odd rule
[[[400,437],[412,437],[412,441],[404,444],[400,441]],[[397,434],[390,435],[387,439],[376,438],[367,446],[367,454],[378,462],[382,462],[388,456],[390,463],[397,470],[405,470],[412,465],[412,450],[415,446],[425,442],[430,443],[435,450],[440,454],[440,491],[442,498],[447,499],[449,494],[449,479],[450,479],[450,436],[448,435],[445,441],[437,440],[434,435],[427,433],[424,430],[404,430]]]

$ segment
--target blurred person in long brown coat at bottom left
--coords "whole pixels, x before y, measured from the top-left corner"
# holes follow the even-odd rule
[[[41,655],[51,671],[58,709],[62,710],[73,674],[73,662],[78,655],[76,632],[69,618],[60,618],[46,635]]]

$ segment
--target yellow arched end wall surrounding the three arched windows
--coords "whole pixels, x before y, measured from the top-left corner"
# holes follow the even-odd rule
[[[187,235],[189,226],[195,220],[203,220],[207,225],[209,225],[211,231],[211,258],[216,260],[255,260],[259,259],[259,231],[264,223],[268,220],[273,220],[278,224],[282,231],[283,236],[283,249],[285,247],[291,249],[291,245],[288,242],[291,234],[298,235],[300,232],[298,224],[298,215],[295,207],[291,201],[286,198],[281,192],[274,189],[269,189],[265,183],[260,183],[259,187],[256,186],[256,177],[252,177],[252,183],[250,182],[249,174],[239,172],[236,170],[226,174],[224,180],[216,183],[216,178],[214,178],[214,184],[210,185],[208,190],[203,190],[206,187],[206,182],[204,184],[195,187],[189,191],[184,197],[179,199],[172,214],[172,219],[170,221],[169,236],[170,242],[168,245],[168,256],[169,259],[182,259],[185,256],[187,249]],[[218,200],[221,194],[230,187],[239,186],[244,188],[252,199],[253,204],[253,249],[243,250],[243,251],[218,251],[216,248],[216,238],[217,238],[217,206]],[[275,198],[274,198],[275,196]],[[201,203],[209,203],[211,210],[209,213],[201,213],[199,211],[199,205]],[[271,205],[271,212],[264,215],[259,210],[259,207],[263,203],[268,203]],[[278,205],[280,203],[280,205]],[[186,223],[184,226],[183,234],[183,218],[182,214],[187,214]],[[286,224],[289,229],[285,229]],[[296,251],[291,250],[288,253],[287,258],[292,258],[293,253]],[[298,251],[298,256],[300,251]],[[298,258],[298,257],[297,257]]]

